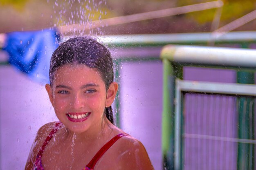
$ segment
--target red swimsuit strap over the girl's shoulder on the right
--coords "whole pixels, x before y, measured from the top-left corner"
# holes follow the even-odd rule
[[[108,143],[106,143],[98,152],[97,154],[92,158],[92,160],[87,164],[87,168],[90,168],[93,170],[94,166],[96,165],[97,161],[102,157],[102,155],[121,137],[126,136],[127,134],[120,133],[110,139]]]

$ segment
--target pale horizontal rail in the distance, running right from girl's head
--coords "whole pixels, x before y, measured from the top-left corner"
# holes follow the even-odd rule
[[[215,44],[240,44],[256,42],[256,31],[229,32],[213,39],[212,33],[171,33],[171,34],[139,34],[139,35],[103,35],[97,40],[109,47],[125,46],[162,46],[166,44],[207,44],[214,40]]]

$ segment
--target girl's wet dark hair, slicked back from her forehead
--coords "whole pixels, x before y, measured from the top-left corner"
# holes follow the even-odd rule
[[[108,90],[114,79],[113,61],[108,49],[91,37],[75,37],[63,42],[52,54],[49,78],[52,86],[54,74],[65,64],[84,64],[96,69]],[[112,107],[105,108],[105,114],[112,124]]]

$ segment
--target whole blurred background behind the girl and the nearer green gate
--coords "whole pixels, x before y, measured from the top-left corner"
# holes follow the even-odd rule
[[[155,170],[173,169],[174,144],[166,154],[162,140],[163,46],[254,49],[254,10],[255,0],[0,0],[0,169],[23,169],[38,128],[57,120],[44,87],[49,58],[59,42],[77,35],[94,36],[112,53],[120,86],[113,104],[117,126],[141,140]],[[239,82],[234,69],[186,66],[182,71],[184,80]],[[248,75],[253,76],[247,83],[255,84],[254,72]],[[187,95],[186,133],[238,138],[237,101]],[[218,109],[207,111],[209,103]],[[250,121],[254,124],[254,117]],[[244,169],[237,163],[244,155],[238,155],[236,142],[184,138],[183,147],[182,169]],[[255,158],[249,157],[245,164],[255,169]]]

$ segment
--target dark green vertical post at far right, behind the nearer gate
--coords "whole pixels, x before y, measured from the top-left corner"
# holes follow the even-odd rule
[[[248,44],[242,44],[248,48]],[[254,72],[238,71],[237,82],[254,84]],[[254,139],[254,99],[238,97],[238,138]],[[254,144],[238,143],[238,170],[254,170]]]

